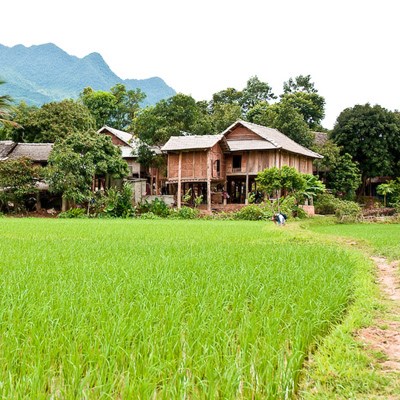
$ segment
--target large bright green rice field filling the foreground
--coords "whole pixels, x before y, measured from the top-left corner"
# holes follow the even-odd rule
[[[0,219],[0,397],[288,399],[358,256],[271,222]]]

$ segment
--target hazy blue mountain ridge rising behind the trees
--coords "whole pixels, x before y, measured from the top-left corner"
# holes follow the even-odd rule
[[[161,78],[124,80],[111,71],[99,53],[78,58],[52,43],[31,47],[0,44],[0,80],[6,82],[0,86],[0,95],[10,95],[15,103],[25,101],[37,106],[76,99],[88,86],[109,91],[117,83],[145,92],[143,106],[176,94]]]

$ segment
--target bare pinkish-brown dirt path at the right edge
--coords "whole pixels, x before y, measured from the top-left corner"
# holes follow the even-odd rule
[[[381,366],[385,372],[400,372],[400,282],[397,276],[399,261],[371,257],[378,269],[378,283],[388,299],[389,313],[375,321],[374,326],[361,329],[359,339],[367,347],[384,354]]]

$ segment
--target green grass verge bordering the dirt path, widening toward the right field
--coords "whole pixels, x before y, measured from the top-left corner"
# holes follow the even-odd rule
[[[357,339],[357,331],[361,328],[381,325],[383,329],[383,320],[398,319],[397,313],[392,313],[391,305],[381,298],[375,266],[368,255],[400,259],[400,225],[332,225],[314,221],[307,227],[317,233],[320,240],[325,237],[325,240],[350,245],[354,254],[359,252],[360,264],[355,274],[355,301],[343,323],[321,340],[318,351],[308,361],[300,397],[306,400],[400,398],[398,373],[381,370],[379,363],[386,356],[369,350]],[[347,240],[343,241],[343,238]]]

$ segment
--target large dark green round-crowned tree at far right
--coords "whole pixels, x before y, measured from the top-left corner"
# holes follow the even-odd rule
[[[340,113],[331,138],[358,162],[363,192],[367,178],[399,173],[400,121],[395,113],[370,104],[347,108]]]

